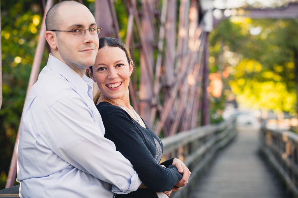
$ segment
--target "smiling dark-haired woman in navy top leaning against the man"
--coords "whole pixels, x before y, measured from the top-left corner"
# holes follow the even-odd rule
[[[129,50],[122,42],[115,38],[99,39],[96,61],[88,73],[101,92],[94,102],[103,119],[105,137],[115,143],[117,151],[131,162],[148,187],[117,197],[162,197],[163,193],[156,192],[163,191],[169,196],[182,177],[172,165],[178,159],[163,162],[164,167],[159,165],[162,142],[129,102],[128,84],[133,68]]]

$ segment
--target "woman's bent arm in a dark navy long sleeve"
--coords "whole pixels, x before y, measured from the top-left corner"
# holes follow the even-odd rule
[[[144,137],[128,115],[116,109],[111,113],[102,113],[105,137],[112,140],[117,151],[127,158],[149,189],[156,192],[168,191],[182,178],[177,168],[161,167],[145,145]]]

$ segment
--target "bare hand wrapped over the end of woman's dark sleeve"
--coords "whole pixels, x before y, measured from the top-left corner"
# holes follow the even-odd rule
[[[188,184],[188,179],[190,177],[191,172],[189,171],[189,169],[185,166],[185,164],[180,159],[175,158],[173,160],[172,165],[175,166],[180,173],[182,173],[181,180],[179,180],[178,183],[173,188],[173,191],[178,191],[178,190],[180,190],[179,187],[183,187]],[[178,187],[178,188],[176,188],[176,187]]]

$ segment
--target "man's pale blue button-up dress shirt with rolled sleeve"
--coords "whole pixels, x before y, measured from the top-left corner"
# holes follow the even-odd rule
[[[92,86],[89,77],[49,55],[21,119],[21,197],[114,197],[141,184],[131,163],[103,137]]]

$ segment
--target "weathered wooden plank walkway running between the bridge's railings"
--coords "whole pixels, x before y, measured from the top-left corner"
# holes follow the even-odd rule
[[[283,184],[258,152],[258,129],[238,135],[215,157],[189,198],[284,198]]]

